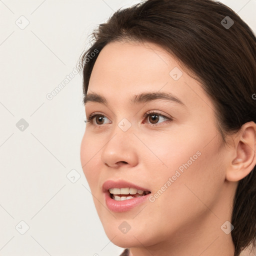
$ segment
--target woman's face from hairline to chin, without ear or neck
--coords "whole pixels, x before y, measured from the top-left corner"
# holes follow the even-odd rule
[[[131,102],[155,92],[173,98],[137,96]],[[94,64],[91,93],[107,103],[86,101],[86,118],[98,116],[86,123],[80,157],[108,238],[120,247],[139,247],[206,236],[209,245],[226,235],[220,226],[232,195],[225,180],[227,149],[199,83],[155,44],[111,42]],[[108,188],[127,187],[150,193],[110,198]],[[139,192],[112,193],[118,199],[127,191]]]

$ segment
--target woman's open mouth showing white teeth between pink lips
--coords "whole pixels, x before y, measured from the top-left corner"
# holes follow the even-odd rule
[[[108,192],[110,198],[116,201],[129,200],[151,193],[150,191],[143,191],[133,187],[109,188]]]

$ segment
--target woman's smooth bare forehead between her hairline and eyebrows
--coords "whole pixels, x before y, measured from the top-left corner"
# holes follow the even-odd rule
[[[173,79],[173,72],[179,72],[180,77]],[[201,84],[160,46],[150,42],[111,42],[103,47],[92,69],[87,93],[121,104],[135,94],[151,91],[171,93],[189,108],[213,110]]]

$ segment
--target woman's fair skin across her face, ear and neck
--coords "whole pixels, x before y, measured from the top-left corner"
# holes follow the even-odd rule
[[[173,67],[183,72],[176,81],[169,75]],[[220,227],[231,222],[237,181],[256,164],[256,124],[244,124],[225,145],[213,103],[201,86],[153,43],[111,42],[97,57],[88,93],[103,95],[108,106],[89,101],[85,113],[88,118],[99,112],[106,119],[86,124],[80,158],[106,235],[130,248],[130,255],[234,255],[231,233]],[[171,92],[185,106],[162,99],[129,102],[149,91]],[[150,110],[173,119],[159,116],[159,125],[150,126],[154,119],[143,117]],[[118,127],[123,118],[131,123],[125,132]],[[107,209],[104,181],[124,179],[154,194],[197,151],[200,156],[155,201],[125,212]],[[131,226],[126,234],[118,229],[123,221]]]

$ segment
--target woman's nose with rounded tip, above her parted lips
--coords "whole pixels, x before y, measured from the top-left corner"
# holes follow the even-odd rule
[[[135,166],[138,161],[137,143],[132,126],[123,131],[116,124],[104,142],[105,145],[101,151],[102,162],[112,168],[123,165]]]

